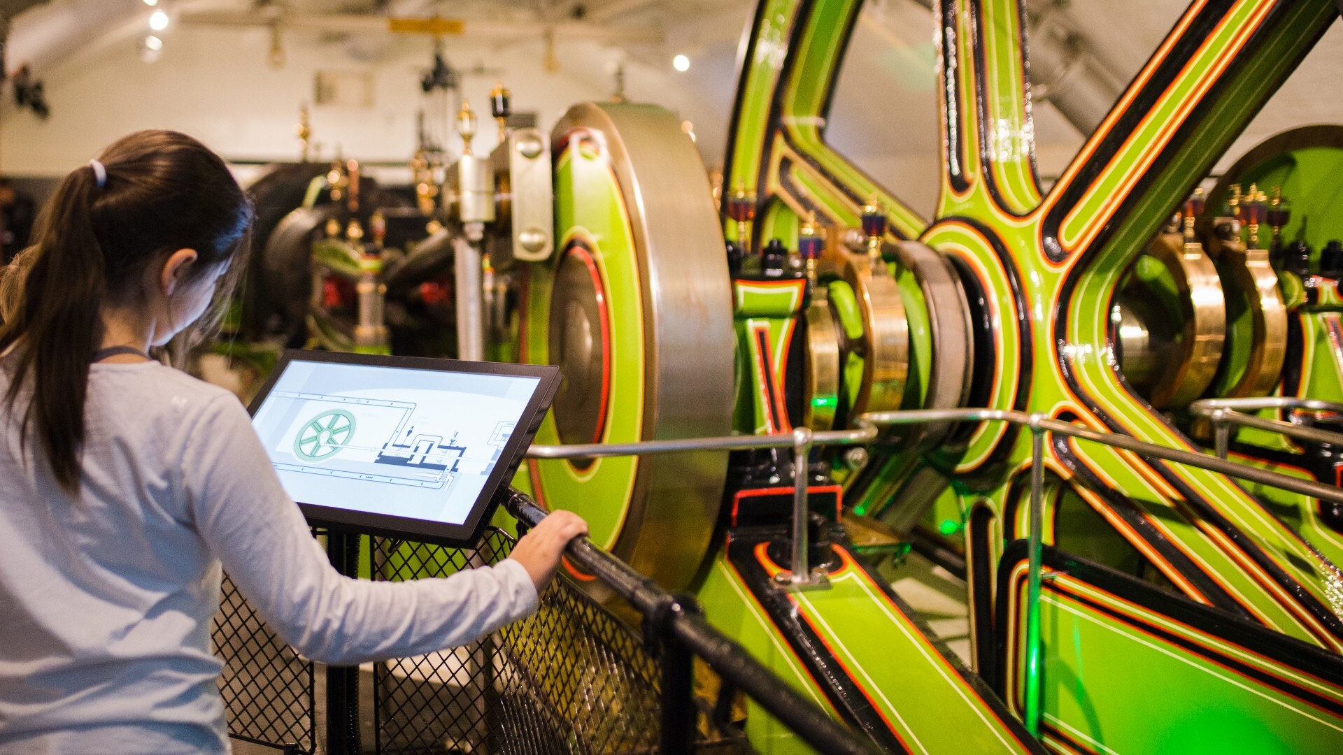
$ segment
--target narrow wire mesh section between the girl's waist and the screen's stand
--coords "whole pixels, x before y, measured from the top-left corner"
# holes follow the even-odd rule
[[[215,653],[224,661],[219,693],[224,699],[228,734],[313,752],[317,731],[313,664],[262,622],[228,575],[211,637]]]

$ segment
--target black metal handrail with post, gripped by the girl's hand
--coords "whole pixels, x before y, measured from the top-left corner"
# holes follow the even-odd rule
[[[518,521],[536,527],[545,510],[529,497],[508,489],[501,502]],[[673,595],[624,562],[598,548],[587,537],[569,543],[565,555],[584,571],[629,601],[643,615],[645,631],[661,639],[662,740],[661,755],[689,754],[696,731],[694,658],[704,658],[724,685],[744,692],[761,708],[827,755],[872,755],[869,744],[853,735],[821,707],[803,697],[747,650],[713,629],[692,596]]]

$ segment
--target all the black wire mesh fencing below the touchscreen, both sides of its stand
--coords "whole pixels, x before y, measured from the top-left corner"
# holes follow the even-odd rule
[[[494,528],[477,549],[373,537],[373,579],[449,576],[497,563],[512,547],[512,537]],[[313,664],[266,627],[227,575],[212,637],[224,661],[219,689],[230,735],[313,752]],[[536,614],[492,637],[375,664],[376,752],[657,752],[662,669],[654,653],[627,623],[557,578],[541,594]],[[701,751],[749,751],[736,727],[724,727],[731,732],[724,735],[702,701],[696,704]]]

